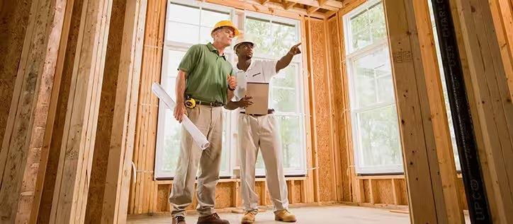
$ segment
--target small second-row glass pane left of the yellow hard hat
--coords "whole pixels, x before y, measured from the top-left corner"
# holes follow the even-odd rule
[[[200,29],[196,25],[167,21],[166,40],[197,44]]]

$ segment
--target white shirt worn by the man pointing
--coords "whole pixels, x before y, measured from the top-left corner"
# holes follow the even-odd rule
[[[237,77],[237,88],[235,88],[235,100],[240,100],[246,93],[247,83],[270,83],[271,78],[276,76],[276,62],[266,60],[252,60],[247,68],[247,71],[237,68],[235,65],[234,71]],[[269,98],[269,106],[271,99]],[[244,111],[244,109],[241,109]]]

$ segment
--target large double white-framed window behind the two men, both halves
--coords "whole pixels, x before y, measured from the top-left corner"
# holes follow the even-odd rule
[[[248,14],[252,17],[244,19],[248,33],[255,31],[268,32],[257,40],[255,59],[279,59],[286,54],[293,44],[299,42],[300,30],[297,20],[288,20],[261,14]],[[212,42],[210,30],[219,20],[232,20],[235,24],[239,16],[232,8],[200,1],[176,0],[168,2],[164,50],[162,54],[161,84],[171,98],[178,65],[187,49],[192,45]],[[264,19],[262,19],[264,18]],[[254,23],[253,21],[258,21]],[[266,29],[257,30],[259,25]],[[176,32],[180,30],[180,32]],[[272,34],[272,35],[271,35]],[[281,42],[278,40],[286,40]],[[232,47],[225,50],[227,60],[235,64],[236,56]],[[283,69],[271,83],[271,106],[276,110],[280,121],[283,148],[283,166],[286,175],[305,175],[305,134],[303,114],[303,83],[300,57],[296,56],[291,65]],[[222,160],[220,176],[237,175],[237,116],[236,112],[224,110]],[[174,176],[180,151],[181,125],[176,122],[173,111],[159,107],[157,126],[157,147],[155,157],[155,177],[170,178]],[[300,139],[298,141],[298,136]],[[257,175],[264,175],[264,165],[259,155]]]

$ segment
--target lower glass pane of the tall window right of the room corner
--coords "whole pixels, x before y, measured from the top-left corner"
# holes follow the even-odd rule
[[[395,106],[361,112],[356,116],[361,166],[402,165]]]

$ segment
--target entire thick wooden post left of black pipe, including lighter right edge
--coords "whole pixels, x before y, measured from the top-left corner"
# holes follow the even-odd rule
[[[424,51],[421,48],[429,43],[430,27],[426,29],[427,25],[419,21],[429,20],[427,6],[418,7],[419,2],[416,5],[410,0],[385,0],[384,6],[412,214],[410,220],[412,223],[463,223],[458,200],[451,200],[454,197],[451,193],[456,189],[453,179],[456,172],[448,161],[451,158],[450,147],[446,147],[448,139],[436,138],[434,133],[444,133],[448,129],[443,116],[433,117],[445,112],[441,107],[440,82],[436,81],[439,76],[436,73],[429,76],[424,71],[425,66],[433,66],[436,61],[432,47]],[[430,82],[438,84],[429,86]],[[433,95],[434,92],[437,95]],[[449,135],[445,133],[443,136]]]

